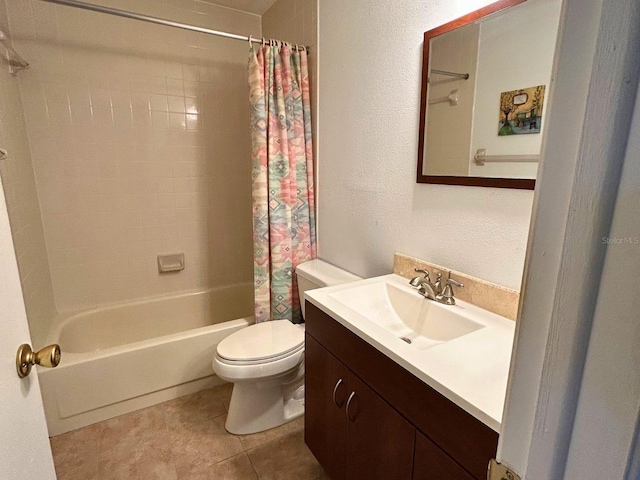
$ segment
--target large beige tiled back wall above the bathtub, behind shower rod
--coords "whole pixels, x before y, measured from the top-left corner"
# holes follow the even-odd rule
[[[6,1],[58,310],[251,281],[248,45]],[[202,1],[94,3],[261,34]]]

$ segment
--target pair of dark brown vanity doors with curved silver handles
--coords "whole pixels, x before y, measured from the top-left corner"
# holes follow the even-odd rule
[[[415,427],[307,335],[305,441],[332,480],[412,478]]]

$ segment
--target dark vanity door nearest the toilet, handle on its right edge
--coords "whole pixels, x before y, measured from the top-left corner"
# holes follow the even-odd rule
[[[345,479],[347,372],[336,357],[306,335],[304,440],[332,480]]]

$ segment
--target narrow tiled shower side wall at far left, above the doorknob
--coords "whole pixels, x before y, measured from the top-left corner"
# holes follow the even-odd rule
[[[6,18],[5,3],[0,0],[0,29],[11,33]],[[40,348],[44,346],[42,342],[56,311],[20,87],[18,79],[9,74],[4,58],[0,61],[0,147],[9,152],[8,158],[0,160],[0,177],[7,200],[31,338],[34,347]]]

